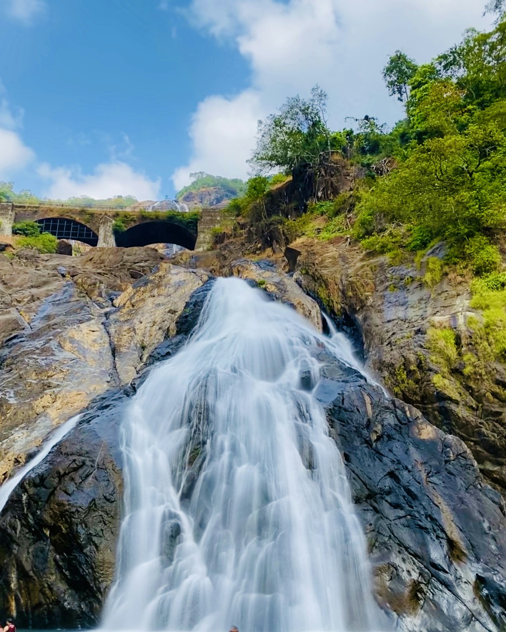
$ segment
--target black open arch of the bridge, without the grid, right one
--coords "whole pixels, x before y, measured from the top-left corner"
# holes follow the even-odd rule
[[[188,250],[195,248],[196,234],[166,221],[143,222],[132,226],[123,233],[115,233],[116,246],[149,246],[152,243],[175,243]]]

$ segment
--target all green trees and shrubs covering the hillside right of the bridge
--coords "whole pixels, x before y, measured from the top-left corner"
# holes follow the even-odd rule
[[[506,226],[506,20],[490,32],[469,29],[430,63],[396,51],[383,78],[406,112],[392,130],[371,116],[330,130],[318,86],[310,99],[291,97],[260,121],[250,161],[258,175],[231,211],[253,224],[274,215],[270,223],[284,224],[290,236],[350,234],[399,262],[445,241],[445,264],[478,276],[497,272]],[[328,195],[325,177],[344,162],[353,181]],[[298,186],[311,181],[305,216],[287,220],[269,205],[272,183],[263,174],[273,169]],[[323,229],[315,224],[322,216]]]

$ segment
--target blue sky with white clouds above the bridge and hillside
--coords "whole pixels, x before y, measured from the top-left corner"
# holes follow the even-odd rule
[[[401,110],[388,54],[427,61],[481,0],[0,0],[0,179],[39,195],[173,197],[246,177],[256,121],[320,83],[330,123]]]

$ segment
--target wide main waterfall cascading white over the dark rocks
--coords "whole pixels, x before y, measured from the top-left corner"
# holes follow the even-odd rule
[[[326,341],[244,281],[215,282],[190,341],[124,419],[105,628],[372,628],[363,533],[311,391]]]

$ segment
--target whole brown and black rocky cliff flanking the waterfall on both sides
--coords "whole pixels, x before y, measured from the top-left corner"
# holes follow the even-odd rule
[[[395,297],[389,287],[393,277],[402,284],[398,270],[361,260],[345,245],[329,251],[335,258],[317,246],[298,245],[295,280],[272,262],[233,261],[230,252],[185,253],[179,263],[186,267],[150,248],[96,249],[75,258],[0,255],[3,478],[52,428],[83,413],[1,514],[0,610],[13,612],[20,627],[99,620],[121,517],[123,406],[153,363],[184,343],[215,274],[248,279],[321,328],[320,310],[303,286],[339,314],[362,341],[370,367],[385,377],[390,370],[382,374],[383,362],[397,367],[404,354],[423,352],[420,323],[433,310],[444,318],[454,313],[458,287],[454,295],[431,293],[416,281],[411,298]],[[418,346],[402,342],[411,329],[405,340]],[[478,439],[467,447],[455,436],[458,408],[450,416],[451,400],[420,397],[437,428],[410,404],[318,353],[316,392],[346,463],[378,603],[399,629],[413,632],[505,628],[506,511],[476,463]]]

